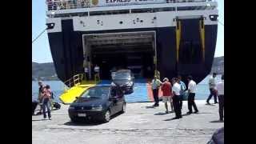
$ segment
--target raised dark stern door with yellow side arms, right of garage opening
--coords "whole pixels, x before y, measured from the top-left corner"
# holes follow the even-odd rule
[[[176,26],[177,62],[204,62],[205,38],[202,18],[178,18]]]

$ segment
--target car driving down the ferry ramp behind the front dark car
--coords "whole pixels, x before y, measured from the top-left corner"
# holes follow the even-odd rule
[[[112,86],[119,86],[125,94],[134,92],[134,75],[130,70],[118,70],[111,74]]]

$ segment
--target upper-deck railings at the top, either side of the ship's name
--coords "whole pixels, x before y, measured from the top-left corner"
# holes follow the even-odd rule
[[[166,3],[216,2],[216,0],[166,0]],[[46,0],[46,10],[70,10],[89,8],[90,0]]]

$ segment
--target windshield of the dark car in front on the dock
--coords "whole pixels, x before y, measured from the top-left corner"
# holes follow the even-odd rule
[[[102,86],[102,87],[93,87],[88,90],[80,98],[104,98],[110,92],[110,87]]]

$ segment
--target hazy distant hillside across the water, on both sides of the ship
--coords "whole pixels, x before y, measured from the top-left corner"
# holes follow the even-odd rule
[[[212,67],[213,72],[218,74],[224,73],[224,56],[214,58],[214,64]],[[42,80],[58,80],[55,73],[54,63],[36,63],[32,62],[32,80],[42,79]]]

